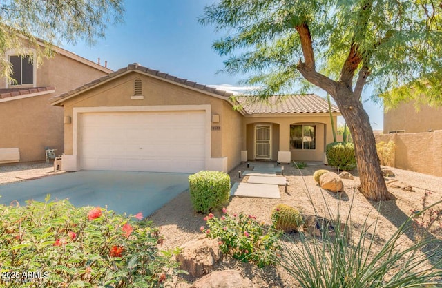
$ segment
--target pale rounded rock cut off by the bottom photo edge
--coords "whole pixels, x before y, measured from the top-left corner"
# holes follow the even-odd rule
[[[214,271],[195,281],[192,288],[250,288],[250,279],[242,278],[236,270]]]

